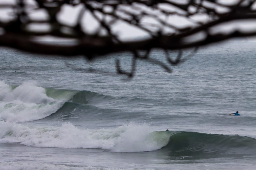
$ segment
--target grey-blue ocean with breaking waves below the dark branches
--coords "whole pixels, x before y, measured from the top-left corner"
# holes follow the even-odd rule
[[[171,73],[138,60],[129,79],[115,60],[130,71],[130,53],[87,61],[1,47],[0,169],[255,169],[255,49],[200,47]],[[166,63],[163,50],[150,57]]]

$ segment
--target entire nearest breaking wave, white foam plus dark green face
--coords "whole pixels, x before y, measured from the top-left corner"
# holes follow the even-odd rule
[[[256,139],[245,136],[197,132],[154,131],[146,124],[113,129],[79,129],[71,123],[60,127],[28,127],[0,122],[0,143],[56,148],[95,148],[111,152],[159,150],[176,155],[230,153],[254,154]]]

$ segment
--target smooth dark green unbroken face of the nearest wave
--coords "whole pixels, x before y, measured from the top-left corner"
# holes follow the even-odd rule
[[[246,136],[230,136],[218,134],[205,134],[197,132],[153,132],[156,140],[169,137],[165,147],[159,152],[168,153],[169,156],[193,156],[206,158],[227,156],[254,155],[256,153],[256,139]]]

